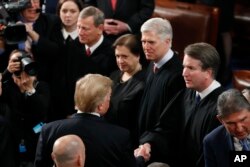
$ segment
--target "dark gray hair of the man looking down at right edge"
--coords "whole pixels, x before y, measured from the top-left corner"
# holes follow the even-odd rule
[[[246,109],[250,112],[250,103],[237,89],[229,89],[223,92],[217,101],[218,116],[223,118],[232,113]]]

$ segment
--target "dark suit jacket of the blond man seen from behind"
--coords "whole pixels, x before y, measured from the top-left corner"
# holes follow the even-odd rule
[[[83,140],[86,147],[85,167],[136,166],[127,130],[107,123],[102,117],[78,113],[43,127],[37,145],[36,167],[52,166],[53,143],[67,134],[76,134]]]

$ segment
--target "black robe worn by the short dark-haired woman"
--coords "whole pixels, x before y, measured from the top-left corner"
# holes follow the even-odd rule
[[[110,123],[128,129],[135,147],[138,147],[136,127],[140,100],[145,86],[145,72],[144,70],[138,71],[126,82],[120,82],[122,76],[120,70],[113,72],[110,76],[113,80],[113,87],[110,107],[105,118]]]

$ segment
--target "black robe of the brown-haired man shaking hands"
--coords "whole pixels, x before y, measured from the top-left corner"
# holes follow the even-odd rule
[[[198,104],[196,91],[180,91],[164,109],[154,130],[145,133],[142,143],[152,143],[152,160],[173,167],[204,166],[202,141],[220,122],[217,120],[217,99],[223,92],[219,87]]]

